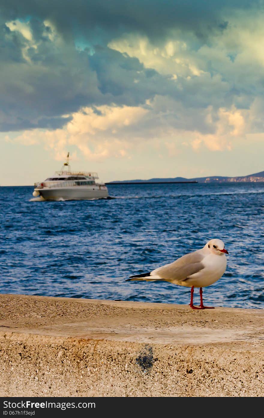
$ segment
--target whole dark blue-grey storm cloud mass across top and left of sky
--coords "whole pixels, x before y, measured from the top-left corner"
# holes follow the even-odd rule
[[[158,45],[176,31],[195,50],[210,41],[210,34],[226,30],[232,10],[252,7],[259,8],[259,2],[0,0],[0,130],[56,129],[83,106],[137,106],[155,95],[178,98],[186,107],[206,107],[218,89],[219,105],[226,97],[232,103],[228,81],[178,76],[176,84],[107,45],[127,33]],[[28,25],[32,40],[6,26],[15,20]]]

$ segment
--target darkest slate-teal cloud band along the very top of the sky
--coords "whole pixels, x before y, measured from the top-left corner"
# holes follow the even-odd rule
[[[7,19],[49,19],[64,36],[106,43],[111,36],[124,32],[138,31],[157,39],[175,28],[204,38],[212,31],[226,28],[230,10],[261,7],[258,0],[2,0],[2,3],[1,10]]]

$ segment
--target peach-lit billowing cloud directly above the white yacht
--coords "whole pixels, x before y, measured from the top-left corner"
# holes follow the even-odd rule
[[[134,136],[131,138],[131,130],[147,113],[148,110],[142,107],[85,107],[74,113],[63,129],[25,130],[13,142],[23,145],[42,143],[56,160],[64,158],[68,145],[75,145],[89,160],[128,157],[127,150],[133,148],[135,139]],[[10,141],[10,138],[6,136],[5,140]]]

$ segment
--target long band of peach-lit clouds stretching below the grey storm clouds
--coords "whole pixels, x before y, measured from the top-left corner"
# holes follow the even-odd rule
[[[173,126],[170,108],[176,108],[181,124]],[[57,160],[64,158],[69,145],[91,161],[131,158],[133,153],[151,150],[158,153],[166,150],[169,157],[175,157],[186,146],[195,152],[203,147],[211,151],[231,150],[234,138],[242,135],[246,139],[249,116],[250,110],[243,113],[235,107],[220,108],[215,115],[212,106],[186,115],[184,108],[170,97],[166,102],[164,97],[156,96],[153,101],[148,100],[147,107],[113,104],[83,107],[73,113],[62,129],[26,130],[14,141],[23,145],[43,143]]]

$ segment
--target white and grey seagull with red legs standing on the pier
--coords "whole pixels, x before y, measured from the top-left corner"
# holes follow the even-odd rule
[[[221,240],[210,240],[200,250],[190,252],[173,263],[163,265],[149,273],[136,274],[130,276],[126,281],[163,280],[175,285],[191,288],[192,309],[214,309],[214,306],[204,306],[203,287],[209,286],[219,280],[226,271],[226,254],[229,252],[224,247]],[[200,288],[201,303],[194,306],[194,288]]]

